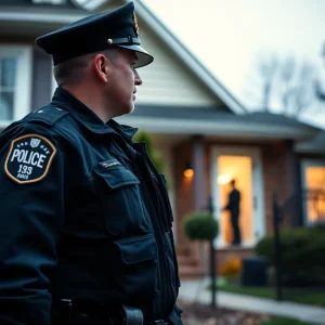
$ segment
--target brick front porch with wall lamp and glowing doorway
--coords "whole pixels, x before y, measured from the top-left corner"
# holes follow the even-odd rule
[[[182,221],[188,213],[207,210],[209,203],[212,204],[213,217],[220,226],[214,243],[219,269],[229,259],[253,253],[256,243],[272,232],[273,191],[286,198],[297,185],[298,161],[288,140],[193,136],[176,145],[172,157],[176,238],[183,278],[197,277],[204,271],[198,243],[188,240],[182,229]],[[188,165],[193,168],[192,177],[185,172]],[[227,211],[221,211],[229,200],[232,179],[242,195],[240,246],[231,245],[231,217]]]

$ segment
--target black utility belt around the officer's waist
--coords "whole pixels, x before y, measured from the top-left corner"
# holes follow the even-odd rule
[[[52,314],[52,325],[182,325],[182,321],[177,306],[169,320],[145,322],[142,311],[128,304],[121,304],[115,312],[104,308],[83,312],[78,301],[61,299],[56,313]]]

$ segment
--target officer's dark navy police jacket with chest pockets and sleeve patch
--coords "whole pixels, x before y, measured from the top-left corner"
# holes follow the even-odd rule
[[[51,324],[62,298],[174,313],[172,212],[135,131],[57,88],[1,133],[0,324]]]

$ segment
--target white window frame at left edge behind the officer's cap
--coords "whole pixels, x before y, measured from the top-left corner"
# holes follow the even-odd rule
[[[14,92],[13,119],[0,120],[0,128],[5,128],[13,121],[23,118],[30,113],[31,106],[31,74],[32,52],[29,46],[0,44],[0,56],[13,56],[17,58],[17,80]]]

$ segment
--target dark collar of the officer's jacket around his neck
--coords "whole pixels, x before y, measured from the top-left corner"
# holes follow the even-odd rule
[[[133,135],[138,131],[138,129],[129,126],[119,125],[114,119],[110,119],[107,123],[105,123],[88,106],[61,87],[56,88],[52,99],[52,104],[68,110],[82,126],[93,133],[118,133],[126,141],[131,142]]]

